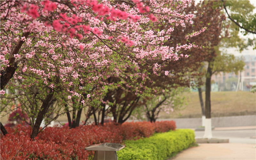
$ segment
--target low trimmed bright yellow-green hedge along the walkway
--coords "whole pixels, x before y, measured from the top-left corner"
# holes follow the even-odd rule
[[[124,142],[125,148],[117,152],[119,160],[166,160],[194,144],[195,132],[179,129]]]

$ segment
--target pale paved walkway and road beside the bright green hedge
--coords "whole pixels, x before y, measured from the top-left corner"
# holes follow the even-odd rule
[[[233,142],[229,140],[229,143],[202,143],[180,152],[172,160],[256,160],[255,126],[218,127],[214,130],[216,136],[220,136],[217,133],[229,132],[225,138],[234,139]],[[201,137],[203,132],[196,132],[196,137]],[[239,136],[245,138],[238,139]]]

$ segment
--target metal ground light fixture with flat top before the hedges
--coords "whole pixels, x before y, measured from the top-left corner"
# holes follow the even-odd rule
[[[86,147],[85,150],[95,150],[93,160],[117,160],[116,151],[124,147],[117,143],[101,143]]]

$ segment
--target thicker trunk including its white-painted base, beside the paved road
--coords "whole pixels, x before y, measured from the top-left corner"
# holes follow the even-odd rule
[[[211,77],[212,63],[208,63],[206,83],[205,83],[205,128],[203,138],[212,139],[212,119],[211,119]]]

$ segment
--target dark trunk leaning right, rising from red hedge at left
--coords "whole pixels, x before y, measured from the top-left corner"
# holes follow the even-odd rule
[[[32,133],[30,135],[30,138],[32,140],[35,140],[35,137],[38,134],[38,131],[40,129],[40,124],[42,123],[45,114],[47,113],[47,110],[49,109],[49,107],[51,106],[51,104],[53,103],[52,101],[52,97],[53,97],[53,92],[50,92],[44,99],[43,104],[41,106],[41,110],[39,111],[39,113],[37,114],[36,117],[36,122],[35,125],[32,129]]]

